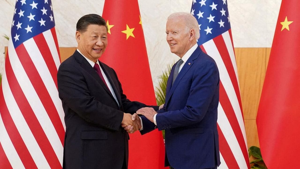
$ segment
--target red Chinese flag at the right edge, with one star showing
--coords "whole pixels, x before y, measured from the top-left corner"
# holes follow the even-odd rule
[[[300,165],[300,3],[283,0],[256,118],[268,169]]]

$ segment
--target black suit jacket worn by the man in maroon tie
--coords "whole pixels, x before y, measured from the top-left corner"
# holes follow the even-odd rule
[[[123,112],[133,114],[146,105],[128,100],[116,72],[99,63],[120,106],[78,51],[59,66],[58,94],[66,124],[63,168],[121,169],[124,159],[128,164],[128,133],[121,127]]]

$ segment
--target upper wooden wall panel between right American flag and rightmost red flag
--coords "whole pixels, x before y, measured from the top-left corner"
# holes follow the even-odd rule
[[[244,119],[256,119],[265,79],[265,48],[235,48]]]

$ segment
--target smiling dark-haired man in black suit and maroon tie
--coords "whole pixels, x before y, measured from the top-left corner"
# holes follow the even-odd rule
[[[128,133],[121,124],[131,132],[141,128],[140,118],[132,121],[131,114],[146,105],[128,100],[116,72],[98,60],[107,46],[107,30],[101,16],[81,17],[76,25],[78,49],[58,69],[66,169],[127,169]]]

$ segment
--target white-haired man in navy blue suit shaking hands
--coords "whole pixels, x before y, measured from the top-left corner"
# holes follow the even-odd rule
[[[166,166],[215,169],[220,165],[217,65],[197,45],[199,26],[193,15],[170,15],[166,29],[171,52],[181,59],[171,69],[164,107],[137,111],[144,115],[141,133],[165,130]]]

